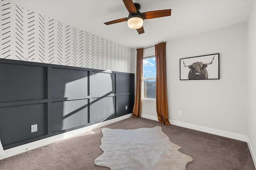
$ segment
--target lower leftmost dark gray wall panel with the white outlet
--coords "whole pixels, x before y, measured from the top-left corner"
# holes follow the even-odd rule
[[[0,107],[0,134],[3,146],[47,135],[47,104]],[[31,125],[37,131],[31,133]]]

